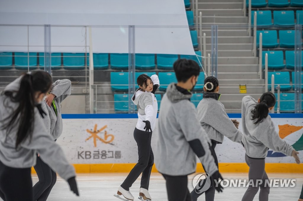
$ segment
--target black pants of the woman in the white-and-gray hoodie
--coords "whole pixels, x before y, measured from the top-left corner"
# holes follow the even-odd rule
[[[154,154],[151,149],[151,134],[152,132],[145,133],[145,131],[135,128],[134,138],[138,145],[138,163],[130,171],[121,187],[129,190],[135,180],[141,177],[141,187],[148,190],[149,178],[151,176],[151,168],[154,164]]]

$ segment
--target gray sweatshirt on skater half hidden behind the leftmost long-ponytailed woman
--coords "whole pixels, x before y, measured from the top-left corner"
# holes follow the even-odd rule
[[[45,101],[41,104],[46,116],[43,118],[43,122],[46,128],[50,128],[50,133],[54,140],[62,134],[62,117],[61,117],[61,102],[71,94],[72,83],[68,79],[57,80],[52,84],[52,91],[50,94],[54,94],[54,98],[57,115],[54,108],[49,107]]]

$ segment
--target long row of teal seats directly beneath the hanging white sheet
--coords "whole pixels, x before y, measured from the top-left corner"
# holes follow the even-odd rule
[[[169,55],[169,54],[136,54],[136,69],[152,70],[157,68],[160,70],[171,70],[174,62],[180,57],[185,59],[195,60],[201,66],[201,52],[195,52],[195,55]],[[44,53],[14,53],[15,69],[36,69],[38,64],[40,69],[44,68]],[[89,54],[87,54],[86,65],[89,65]],[[85,53],[52,53],[52,69],[83,70],[85,69]],[[63,58],[63,59],[62,59]],[[128,69],[128,54],[118,53],[93,53],[94,69],[108,69],[109,64],[112,70],[127,70]],[[12,69],[13,53],[0,53],[0,69]]]

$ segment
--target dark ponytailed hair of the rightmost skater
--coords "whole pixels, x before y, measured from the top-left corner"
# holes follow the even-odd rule
[[[276,97],[271,92],[262,94],[260,103],[252,110],[251,120],[255,120],[255,124],[261,123],[268,116],[268,108],[275,106]]]

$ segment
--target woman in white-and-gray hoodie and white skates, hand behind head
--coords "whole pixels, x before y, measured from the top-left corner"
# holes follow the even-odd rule
[[[134,138],[138,145],[138,163],[130,171],[124,182],[118,188],[116,197],[124,196],[123,200],[133,200],[134,196],[129,191],[129,188],[135,180],[141,177],[141,186],[139,190],[139,199],[151,200],[148,193],[149,178],[151,168],[154,164],[154,154],[151,149],[151,135],[156,126],[158,113],[158,102],[155,97],[155,91],[160,86],[158,75],[142,74],[137,78],[139,88],[132,97],[132,101],[138,106],[138,122],[134,131]]]

